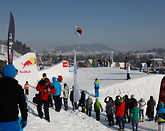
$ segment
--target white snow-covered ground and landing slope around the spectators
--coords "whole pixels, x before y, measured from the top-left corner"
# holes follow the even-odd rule
[[[47,70],[48,71],[48,70]],[[46,72],[47,73],[47,72]],[[70,72],[73,73],[73,72]],[[73,111],[71,102],[69,103],[69,110],[61,109],[56,112],[53,108],[49,109],[50,123],[38,117],[36,105],[32,103],[32,98],[37,91],[36,85],[31,85],[30,94],[27,97],[28,103],[28,125],[25,131],[45,131],[45,130],[60,130],[60,131],[111,131],[118,130],[118,125],[113,127],[108,126],[105,120],[105,103],[104,98],[111,96],[115,99],[116,95],[124,96],[127,94],[129,97],[134,94],[135,98],[139,100],[143,97],[146,101],[149,100],[151,95],[154,96],[155,101],[158,101],[160,82],[163,75],[159,74],[145,74],[138,71],[131,71],[131,79],[126,80],[126,70],[115,69],[109,67],[102,68],[79,68],[78,81],[81,90],[85,90],[87,96],[90,95],[95,102],[93,83],[97,77],[100,81],[100,97],[104,111],[100,114],[100,121],[96,121],[95,112],[92,110],[91,117],[79,110]],[[56,76],[57,77],[57,76]],[[50,78],[51,79],[51,78]],[[20,79],[19,81],[25,81]],[[70,87],[73,85],[73,75],[68,75],[64,78],[63,83],[67,83]],[[132,130],[131,123],[125,124],[125,130]],[[145,122],[139,123],[139,130],[152,131],[157,130],[157,123],[148,121],[145,116]]]

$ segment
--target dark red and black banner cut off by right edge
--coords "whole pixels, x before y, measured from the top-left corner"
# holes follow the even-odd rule
[[[158,103],[163,102],[165,104],[165,76],[162,78],[160,84],[160,92],[159,92],[159,101]]]

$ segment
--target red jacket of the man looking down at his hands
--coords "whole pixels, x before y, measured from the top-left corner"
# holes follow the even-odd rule
[[[50,92],[48,91],[48,88],[50,89]],[[45,86],[44,84],[42,84],[42,85],[38,84],[36,87],[36,90],[40,92],[41,100],[48,100],[48,96],[50,95],[50,93],[52,93],[52,94],[56,93],[56,89],[50,85],[50,81],[49,81],[48,86]],[[46,92],[45,92],[45,90],[46,90]]]

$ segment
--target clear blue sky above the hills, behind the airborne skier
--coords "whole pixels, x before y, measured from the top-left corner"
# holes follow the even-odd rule
[[[0,39],[9,15],[15,39],[31,48],[102,43],[114,49],[165,48],[165,0],[5,0],[0,2]],[[75,35],[75,25],[83,34]]]

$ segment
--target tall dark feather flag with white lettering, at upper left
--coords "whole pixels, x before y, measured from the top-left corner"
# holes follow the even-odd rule
[[[8,64],[13,63],[13,45],[15,41],[15,25],[14,25],[14,18],[12,13],[10,12],[10,22],[9,22],[9,29],[8,29]]]

